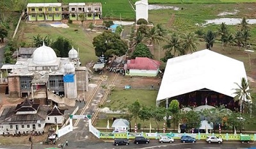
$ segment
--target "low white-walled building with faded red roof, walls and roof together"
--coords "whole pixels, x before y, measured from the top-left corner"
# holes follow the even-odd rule
[[[125,75],[155,77],[159,72],[160,65],[160,61],[138,57],[127,61],[124,66]]]

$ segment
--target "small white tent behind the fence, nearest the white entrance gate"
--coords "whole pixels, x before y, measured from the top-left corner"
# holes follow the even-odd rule
[[[127,120],[120,118],[116,119],[111,127],[113,127],[115,132],[127,132],[129,125],[130,123]]]

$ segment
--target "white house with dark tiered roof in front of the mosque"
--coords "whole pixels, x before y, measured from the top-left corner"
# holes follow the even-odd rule
[[[0,133],[23,134],[42,132],[45,126],[48,107],[39,106],[26,98],[16,107],[5,107],[0,117]]]

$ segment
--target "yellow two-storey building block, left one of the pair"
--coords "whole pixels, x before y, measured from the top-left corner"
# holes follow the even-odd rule
[[[28,20],[61,20],[61,3],[28,3]]]

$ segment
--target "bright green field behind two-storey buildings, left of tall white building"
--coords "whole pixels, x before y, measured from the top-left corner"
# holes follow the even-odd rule
[[[29,0],[29,3],[57,3],[56,0]],[[101,3],[104,18],[134,20],[135,12],[128,0],[63,0],[64,3]]]

